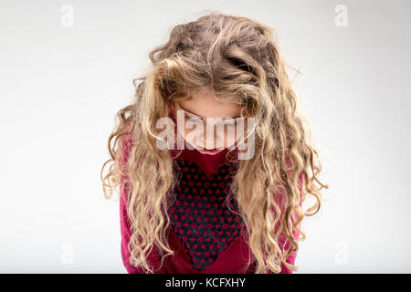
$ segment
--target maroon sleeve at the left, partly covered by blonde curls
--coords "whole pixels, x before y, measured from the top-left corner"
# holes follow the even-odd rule
[[[127,162],[130,151],[130,141],[125,141],[121,144],[121,165]],[[120,229],[121,229],[121,258],[123,265],[125,266],[129,274],[145,274],[146,272],[142,267],[132,266],[130,263],[130,251],[128,245],[131,238],[131,224],[127,216],[127,203],[126,203],[126,192],[128,192],[128,187],[123,188],[124,177],[121,177],[120,183]],[[147,256],[147,261],[149,265],[153,268],[154,274],[165,274],[166,270],[164,266],[160,266],[160,254],[157,248],[154,246],[152,252]]]

